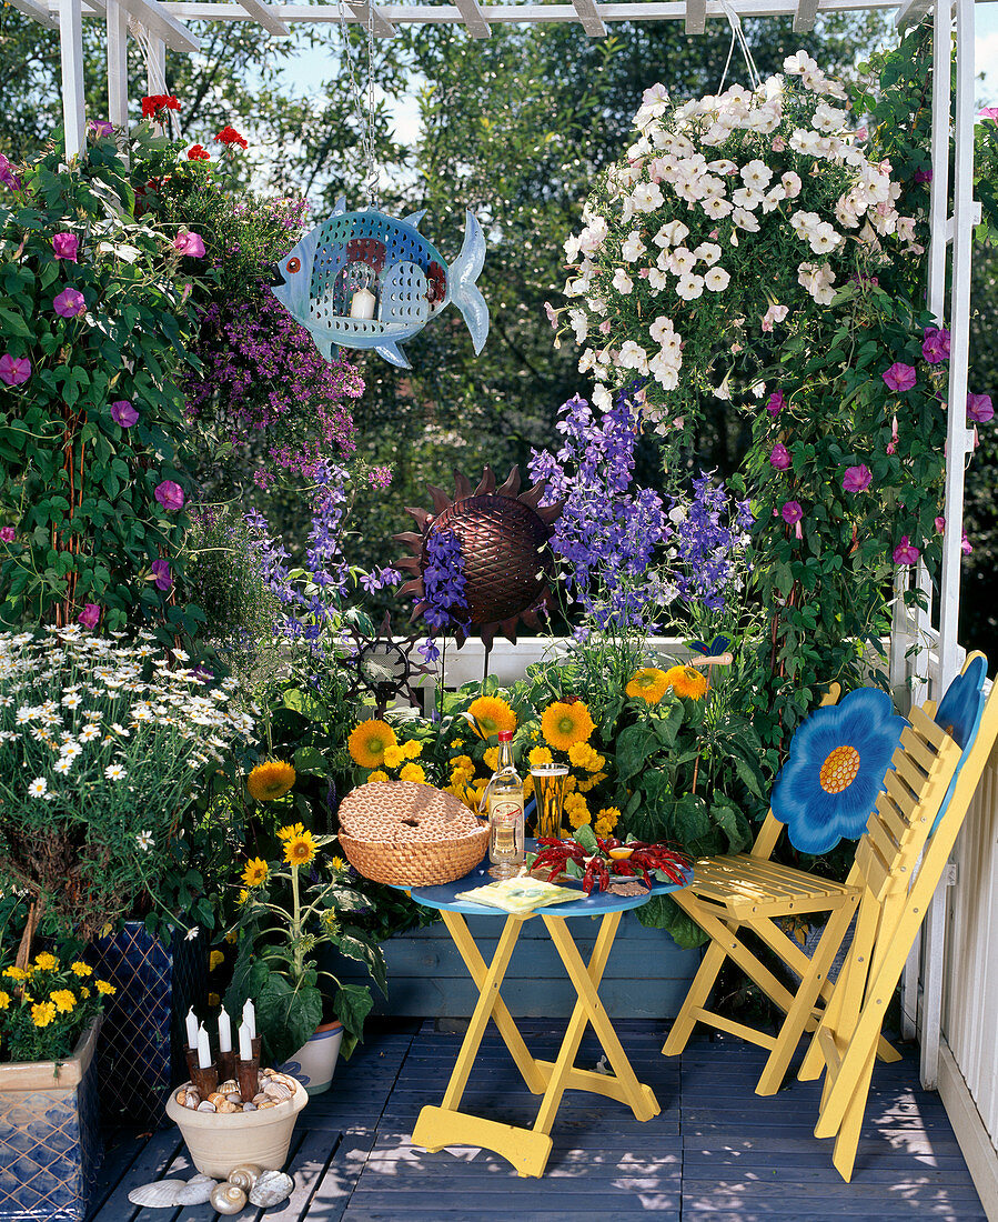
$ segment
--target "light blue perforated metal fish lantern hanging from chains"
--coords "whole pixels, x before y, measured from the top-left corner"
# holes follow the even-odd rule
[[[464,244],[448,268],[419,232],[424,215],[425,209],[402,220],[375,208],[348,213],[340,199],[277,263],[271,292],[327,360],[336,347],[374,348],[408,369],[399,345],[452,302],[481,352],[489,335],[489,307],[475,287],[485,263],[481,226],[465,214]]]

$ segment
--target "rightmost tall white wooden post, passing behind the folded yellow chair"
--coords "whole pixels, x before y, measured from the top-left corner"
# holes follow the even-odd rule
[[[949,396],[947,424],[943,569],[939,593],[938,700],[960,670],[960,544],[964,523],[964,462],[974,433],[966,426],[970,354],[970,259],[974,243],[974,0],[956,0],[956,159],[953,183],[953,287],[949,298]],[[938,75],[942,62],[937,60]],[[934,167],[933,167],[934,169]],[[939,1066],[947,888],[939,887],[926,921],[922,953],[921,1079],[934,1090]]]

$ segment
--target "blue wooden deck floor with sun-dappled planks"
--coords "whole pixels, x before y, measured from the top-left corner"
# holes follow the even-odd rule
[[[461,1037],[432,1022],[386,1023],[337,1067],[332,1090],[310,1101],[292,1144],[296,1188],[282,1206],[247,1209],[244,1222],[986,1222],[939,1099],[921,1090],[911,1052],[878,1064],[851,1184],[831,1163],[831,1141],[812,1135],[818,1086],[789,1079],[761,1099],[752,1086],[760,1050],[734,1037],[704,1039],[682,1058],[660,1055],[662,1025],[618,1022],[641,1081],[661,1114],[641,1124],[621,1103],[569,1092],[540,1180],[520,1179],[497,1155],[453,1147],[431,1155],[410,1143],[419,1108],[439,1103]],[[561,1030],[522,1022],[535,1056],[552,1058]],[[591,1035],[577,1063],[592,1066]],[[490,1029],[465,1106],[530,1124],[536,1100]],[[166,1174],[188,1178],[176,1128],[109,1141],[92,1222],[209,1222],[209,1206],[139,1210],[128,1190]]]

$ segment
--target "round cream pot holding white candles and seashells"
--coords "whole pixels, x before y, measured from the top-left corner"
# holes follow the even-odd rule
[[[264,1171],[280,1171],[287,1162],[291,1134],[298,1112],[308,1102],[305,1088],[294,1088],[291,1099],[260,1112],[193,1112],[176,1100],[166,1101],[166,1114],[183,1135],[191,1160],[203,1176],[227,1179],[241,1162],[252,1162]]]

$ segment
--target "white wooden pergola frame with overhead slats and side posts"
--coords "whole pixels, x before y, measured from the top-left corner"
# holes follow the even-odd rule
[[[200,40],[188,21],[246,21],[260,27],[261,37],[286,38],[294,23],[336,23],[338,4],[269,4],[266,0],[10,0],[15,9],[60,33],[62,65],[62,108],[66,153],[72,158],[83,147],[86,111],[83,101],[83,20],[103,20],[107,29],[107,108],[115,127],[128,125],[127,38],[129,22],[138,23],[149,48],[150,90],[165,81],[166,51],[195,53]],[[366,24],[371,0],[346,0],[346,21]],[[704,33],[707,18],[793,16],[794,29],[810,31],[818,15],[858,10],[895,10],[894,23],[905,29],[933,13],[933,57],[938,65],[955,60],[955,109],[950,72],[936,72],[932,93],[932,185],[928,307],[938,325],[950,330],[950,404],[947,428],[947,474],[943,535],[943,563],[938,605],[932,606],[932,584],[925,567],[914,576],[903,571],[900,595],[914,583],[930,599],[928,610],[910,615],[895,604],[891,646],[891,682],[895,692],[909,690],[914,698],[941,692],[959,673],[963,649],[958,642],[960,610],[960,524],[964,517],[964,468],[974,448],[974,430],[966,425],[967,357],[970,345],[970,271],[974,226],[980,205],[974,200],[974,29],[975,0],[647,0],[647,2],[483,5],[479,0],[454,4],[375,4],[373,27],[376,37],[391,38],[401,24],[459,24],[472,38],[487,38],[494,24],[507,22],[578,22],[591,38],[607,34],[608,24],[621,21],[682,21],[688,34]],[[954,34],[955,29],[955,45]],[[949,210],[949,149],[955,139],[953,211]],[[948,269],[952,279],[947,288]],[[884,540],[887,546],[887,540]],[[936,627],[937,624],[937,627]],[[915,655],[911,649],[921,650]],[[927,646],[927,648],[925,648]],[[922,1081],[934,1088],[941,1040],[943,980],[943,931],[945,888],[936,895],[921,957],[912,956],[905,974],[905,1035],[915,1034],[916,1012],[922,1046]],[[921,997],[919,985],[921,974]],[[919,1001],[921,1002],[919,1004]]]

